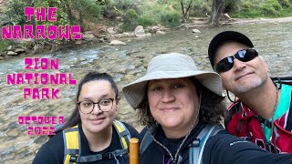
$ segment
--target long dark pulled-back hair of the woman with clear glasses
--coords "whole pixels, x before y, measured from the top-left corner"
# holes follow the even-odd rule
[[[76,95],[76,99],[78,101],[78,97],[80,95],[81,92],[81,88],[84,84],[90,82],[90,81],[98,81],[98,80],[107,80],[110,82],[111,87],[113,88],[115,95],[116,95],[116,99],[119,97],[119,89],[116,85],[116,83],[114,82],[114,80],[112,79],[112,77],[107,74],[107,73],[99,73],[99,72],[89,72],[85,77],[83,77],[81,79],[81,81],[78,84],[78,92]],[[62,131],[63,129],[66,128],[71,128],[74,127],[76,125],[78,125],[78,123],[81,122],[81,118],[78,112],[78,104],[75,105],[75,108],[73,110],[73,113],[71,114],[70,118],[68,118],[68,121],[64,124],[64,126],[62,126],[62,128],[57,129],[56,133],[59,131]]]

